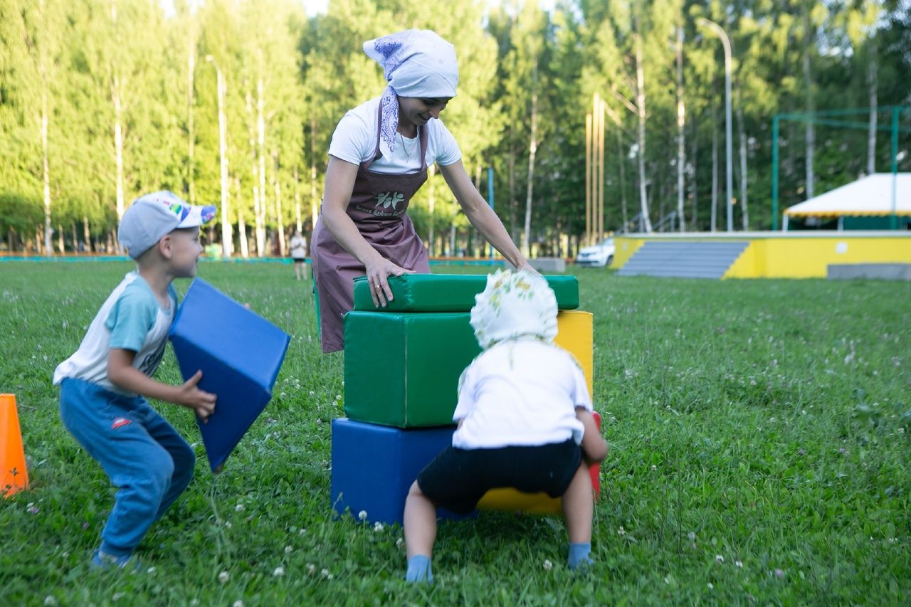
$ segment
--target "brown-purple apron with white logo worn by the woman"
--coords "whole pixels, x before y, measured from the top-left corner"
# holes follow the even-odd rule
[[[415,192],[427,180],[427,133],[418,129],[421,142],[421,170],[396,175],[367,170],[379,159],[380,125],[383,103],[380,103],[376,128],[374,158],[364,160],[357,170],[351,201],[345,210],[354,221],[364,240],[385,259],[417,273],[430,273],[424,243],[415,232],[415,225],[405,214]],[[403,142],[404,145],[404,142]],[[351,253],[345,251],[322,225],[322,218],[313,229],[311,251],[313,278],[319,297],[320,336],[322,352],[335,352],[344,347],[343,316],[354,304],[354,278],[363,276],[365,268]]]

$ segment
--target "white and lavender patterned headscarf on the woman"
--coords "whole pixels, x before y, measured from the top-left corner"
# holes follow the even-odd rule
[[[395,148],[398,99],[402,97],[455,97],[458,63],[455,46],[429,29],[406,29],[363,43],[363,52],[383,66],[388,86],[383,91],[380,136]]]

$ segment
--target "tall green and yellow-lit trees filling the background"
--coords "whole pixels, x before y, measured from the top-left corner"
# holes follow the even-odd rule
[[[220,204],[218,66],[232,248],[275,251],[298,212],[312,229],[338,120],[384,88],[363,42],[408,27],[455,44],[459,91],[443,119],[485,195],[486,170],[494,171],[507,230],[516,242],[567,255],[586,231],[585,116],[596,93],[607,102],[605,225],[620,229],[639,212],[641,193],[656,224],[676,209],[681,25],[686,225],[707,230],[711,193],[723,199],[724,190],[724,71],[722,46],[700,17],[732,41],[735,225],[745,193],[750,227],[765,229],[773,115],[907,104],[908,8],[906,0],[563,0],[543,12],[533,0],[453,0],[445,10],[330,0],[325,14],[307,16],[294,0],[5,0],[2,242],[107,249],[118,211],[148,190],[189,196],[192,184],[197,203]],[[819,193],[871,167],[888,170],[890,118],[861,114],[852,118],[857,129],[783,122],[782,206],[804,200],[810,179]],[[901,118],[907,129],[911,113]],[[911,168],[908,145],[903,131],[899,170]],[[718,211],[722,218],[722,201]],[[454,252],[453,244],[480,252],[438,174],[411,213],[434,252]],[[219,222],[206,232],[215,242]]]

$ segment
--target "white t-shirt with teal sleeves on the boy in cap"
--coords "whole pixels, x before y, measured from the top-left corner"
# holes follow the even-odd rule
[[[168,330],[177,310],[177,292],[173,285],[169,285],[168,295],[170,305],[165,310],[145,279],[136,272],[128,273],[101,306],[76,354],[57,365],[54,384],[72,377],[134,396],[107,379],[107,352],[111,348],[132,350],[136,352],[133,366],[147,376],[154,375],[164,355]]]

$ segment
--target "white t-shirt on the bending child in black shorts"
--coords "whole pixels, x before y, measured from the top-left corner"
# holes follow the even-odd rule
[[[576,407],[591,411],[589,386],[566,350],[534,339],[500,342],[459,378],[453,447],[499,448],[582,442]]]

